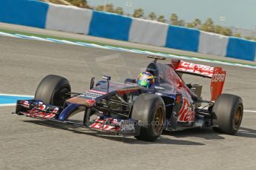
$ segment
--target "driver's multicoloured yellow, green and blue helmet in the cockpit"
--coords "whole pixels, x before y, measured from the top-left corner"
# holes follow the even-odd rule
[[[140,72],[136,83],[140,86],[149,88],[152,84],[154,84],[154,75],[152,75],[150,72]]]

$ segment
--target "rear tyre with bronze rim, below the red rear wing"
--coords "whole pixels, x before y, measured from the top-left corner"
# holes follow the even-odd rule
[[[234,135],[243,118],[243,101],[237,95],[222,94],[212,108],[215,132]]]

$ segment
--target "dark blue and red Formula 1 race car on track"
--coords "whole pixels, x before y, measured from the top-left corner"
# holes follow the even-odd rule
[[[68,123],[115,135],[153,141],[163,132],[194,127],[212,127],[234,135],[243,118],[243,101],[237,95],[221,94],[226,71],[220,67],[171,60],[161,64],[154,58],[146,71],[154,75],[154,86],[145,88],[136,79],[111,82],[103,76],[86,92],[71,92],[69,81],[47,75],[36,89],[34,100],[17,101],[16,114]],[[211,100],[201,98],[202,86],[186,84],[183,74],[211,78]],[[205,104],[206,106],[201,106]],[[82,112],[81,123],[70,118]]]

